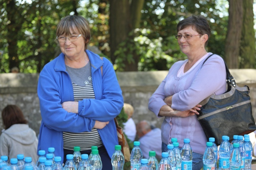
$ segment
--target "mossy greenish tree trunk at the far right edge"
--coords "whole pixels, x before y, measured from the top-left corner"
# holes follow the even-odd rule
[[[253,18],[253,0],[243,0],[243,30],[240,47],[241,63],[239,68],[254,68],[255,65]]]

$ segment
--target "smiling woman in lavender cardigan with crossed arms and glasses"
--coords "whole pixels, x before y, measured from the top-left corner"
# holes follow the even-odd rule
[[[223,59],[205,47],[211,29],[203,16],[191,16],[177,24],[177,35],[181,51],[187,56],[169,69],[152,97],[148,108],[157,117],[165,116],[162,123],[162,151],[167,149],[175,137],[183,145],[184,138],[190,139],[193,150],[193,169],[203,167],[202,157],[207,137],[197,120],[199,103],[208,96],[220,95],[226,91],[226,69]],[[202,65],[203,64],[203,65]]]

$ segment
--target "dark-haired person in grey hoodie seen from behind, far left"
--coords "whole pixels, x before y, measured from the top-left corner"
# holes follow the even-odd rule
[[[29,128],[21,109],[16,105],[7,105],[2,110],[4,129],[0,136],[0,155],[17,158],[18,154],[31,157],[37,161],[38,138],[35,131]]]

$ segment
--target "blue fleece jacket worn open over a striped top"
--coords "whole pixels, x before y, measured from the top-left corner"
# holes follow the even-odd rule
[[[124,101],[113,65],[106,58],[86,50],[91,63],[91,77],[95,99],[79,101],[78,114],[69,113],[61,103],[74,101],[71,79],[66,71],[64,54],[61,53],[53,61],[47,63],[38,80],[38,97],[42,122],[40,127],[38,151],[55,148],[55,155],[62,157],[62,132],[90,132],[95,121],[106,122],[99,135],[110,158],[118,145],[114,118],[120,113]],[[103,66],[101,74],[100,67]]]

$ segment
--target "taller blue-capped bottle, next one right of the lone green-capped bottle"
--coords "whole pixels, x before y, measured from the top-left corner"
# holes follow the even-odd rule
[[[131,151],[130,162],[131,162],[131,170],[139,169],[141,165],[141,159],[143,159],[142,151],[140,149],[140,142],[134,141],[133,148]]]

